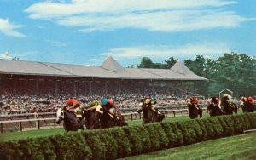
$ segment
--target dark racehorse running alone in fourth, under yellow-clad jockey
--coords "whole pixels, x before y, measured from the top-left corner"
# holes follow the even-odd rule
[[[161,122],[165,118],[165,114],[163,112],[155,112],[150,107],[147,107],[143,102],[141,102],[139,106],[143,111],[143,124]]]

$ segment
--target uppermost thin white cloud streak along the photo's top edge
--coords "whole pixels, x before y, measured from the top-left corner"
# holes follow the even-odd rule
[[[160,9],[195,9],[219,7],[236,3],[222,0],[73,0],[71,3],[50,2],[35,3],[25,11],[33,19],[49,19],[73,14],[120,14],[145,12]]]

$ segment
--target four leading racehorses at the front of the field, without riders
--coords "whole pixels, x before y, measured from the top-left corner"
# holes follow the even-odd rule
[[[142,102],[140,107],[143,111],[143,123],[161,122],[165,115],[163,112],[155,113]],[[76,118],[72,111],[67,111],[65,108],[59,108],[56,112],[56,123],[60,124],[62,121],[64,129],[68,131],[76,131],[78,129],[105,129],[114,126],[125,126],[124,116],[117,112],[117,117],[109,114],[101,105],[96,107],[86,108],[83,111],[82,118]]]

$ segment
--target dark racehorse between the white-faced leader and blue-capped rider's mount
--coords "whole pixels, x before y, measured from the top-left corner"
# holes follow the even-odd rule
[[[96,109],[84,110],[85,126],[86,129],[100,129],[101,121],[100,118],[96,117]]]

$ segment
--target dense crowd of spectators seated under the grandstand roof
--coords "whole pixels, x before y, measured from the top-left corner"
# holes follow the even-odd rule
[[[67,85],[69,82],[61,82],[56,94],[55,89],[50,88],[51,85],[49,85],[52,83],[54,86],[54,83],[46,83],[48,85],[42,89],[38,86],[39,92],[26,84],[20,85],[15,94],[11,85],[9,88],[0,89],[0,114],[55,112],[69,97],[79,100],[82,106],[87,106],[92,100],[100,101],[102,97],[107,97],[113,99],[119,108],[132,108],[137,107],[139,101],[146,97],[157,100],[159,105],[175,106],[185,105],[190,96],[195,96],[195,94],[170,87],[154,86],[152,89],[144,83],[137,86],[134,83],[121,86],[119,83],[109,83],[107,86],[105,83],[96,83],[92,88],[89,88],[86,83],[77,83],[76,91],[73,91],[73,85]],[[31,84],[32,82],[30,86]],[[205,104],[207,100],[200,99],[200,103]]]

